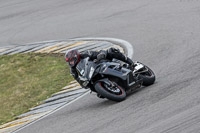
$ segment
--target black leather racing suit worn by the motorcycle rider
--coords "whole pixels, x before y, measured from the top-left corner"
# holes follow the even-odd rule
[[[113,58],[124,61],[126,63],[128,63],[129,65],[133,65],[133,61],[128,58],[127,56],[125,56],[123,53],[121,53],[118,49],[115,48],[110,48],[108,50],[101,50],[101,51],[86,51],[84,53],[80,54],[80,58],[84,59],[89,57],[90,60],[99,60],[102,58],[106,58],[109,60],[112,60]],[[79,78],[78,78],[78,73],[76,71],[76,66],[71,67],[71,75],[74,77],[74,79],[76,79],[77,82],[79,82]]]

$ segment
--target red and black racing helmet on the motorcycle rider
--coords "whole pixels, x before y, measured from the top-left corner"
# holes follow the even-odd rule
[[[80,53],[78,50],[70,50],[65,55],[66,62],[69,63],[70,67],[76,66],[80,61]]]

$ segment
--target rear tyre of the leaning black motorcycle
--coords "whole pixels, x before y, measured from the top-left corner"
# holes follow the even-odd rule
[[[147,71],[139,74],[139,78],[143,79],[142,85],[149,86],[149,85],[154,84],[156,80],[154,72],[147,66],[145,66],[144,69],[146,69]]]

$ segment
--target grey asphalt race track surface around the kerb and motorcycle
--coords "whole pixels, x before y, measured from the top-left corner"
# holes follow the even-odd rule
[[[0,0],[0,44],[114,37],[156,83],[123,102],[88,94],[20,133],[199,133],[199,0]]]

